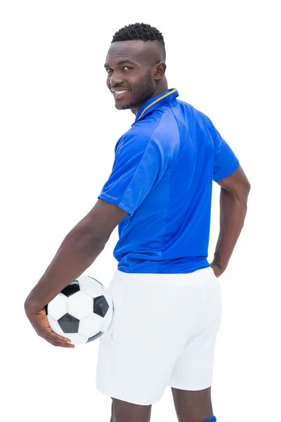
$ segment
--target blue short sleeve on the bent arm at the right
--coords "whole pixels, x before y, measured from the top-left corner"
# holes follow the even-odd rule
[[[233,174],[239,167],[239,161],[232,149],[221,137],[213,125],[214,130],[214,172],[213,180],[220,181]]]

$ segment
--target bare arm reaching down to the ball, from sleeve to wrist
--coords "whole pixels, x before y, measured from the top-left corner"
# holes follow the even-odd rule
[[[104,200],[74,226],[60,245],[45,274],[25,300],[27,312],[38,312],[77,279],[105,248],[112,231],[128,213]]]

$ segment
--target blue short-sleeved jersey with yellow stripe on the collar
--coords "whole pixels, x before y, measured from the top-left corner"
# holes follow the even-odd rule
[[[117,141],[98,198],[128,212],[113,252],[126,273],[189,273],[207,261],[212,181],[239,166],[209,117],[178,91],[146,101]]]

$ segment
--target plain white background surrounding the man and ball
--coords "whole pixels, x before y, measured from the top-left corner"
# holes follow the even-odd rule
[[[169,88],[207,114],[251,182],[248,214],[221,276],[214,413],[280,420],[280,44],[277,1],[1,1],[1,412],[6,422],[110,421],[95,387],[98,342],[39,338],[23,304],[107,180],[131,127],[103,68],[124,25],[157,27]],[[279,58],[278,58],[279,56]],[[214,184],[209,259],[218,236]],[[85,271],[108,286],[117,229]],[[279,344],[278,344],[279,343]],[[176,421],[171,391],[152,422]]]

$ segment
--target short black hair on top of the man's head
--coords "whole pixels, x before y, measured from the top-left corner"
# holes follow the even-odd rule
[[[161,60],[166,61],[166,50],[164,37],[157,28],[148,25],[147,23],[133,23],[124,26],[121,30],[115,32],[111,42],[116,41],[130,41],[141,39],[143,41],[155,41],[161,54]]]

